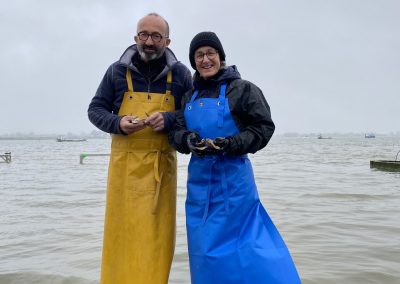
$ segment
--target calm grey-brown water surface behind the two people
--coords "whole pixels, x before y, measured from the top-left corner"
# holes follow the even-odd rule
[[[0,141],[0,284],[98,283],[110,140]],[[274,137],[251,155],[265,208],[304,284],[400,283],[400,138]],[[170,283],[190,283],[179,155],[177,245]]]

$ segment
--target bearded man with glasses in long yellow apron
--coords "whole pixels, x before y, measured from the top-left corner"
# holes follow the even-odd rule
[[[112,134],[101,283],[166,284],[175,245],[176,153],[167,133],[192,86],[156,13],[107,70],[88,116]]]

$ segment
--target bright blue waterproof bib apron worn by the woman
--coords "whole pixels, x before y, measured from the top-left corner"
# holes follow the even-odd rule
[[[202,138],[239,133],[226,85],[217,99],[185,105],[187,128]],[[192,155],[186,227],[192,284],[301,283],[289,251],[260,203],[247,155]]]

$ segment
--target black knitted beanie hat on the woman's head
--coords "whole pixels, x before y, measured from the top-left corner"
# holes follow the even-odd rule
[[[221,61],[225,61],[225,52],[222,47],[221,42],[217,35],[213,32],[201,32],[195,35],[192,39],[189,47],[189,60],[190,65],[192,65],[193,69],[196,70],[196,63],[194,61],[194,53],[195,51],[202,46],[211,46],[214,47],[219,54],[219,58]]]

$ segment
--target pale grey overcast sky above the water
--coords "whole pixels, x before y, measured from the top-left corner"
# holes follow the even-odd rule
[[[0,8],[0,134],[96,129],[88,104],[149,12],[170,48],[217,33],[277,133],[400,131],[398,0],[13,0]],[[191,69],[192,70],[192,69]]]

